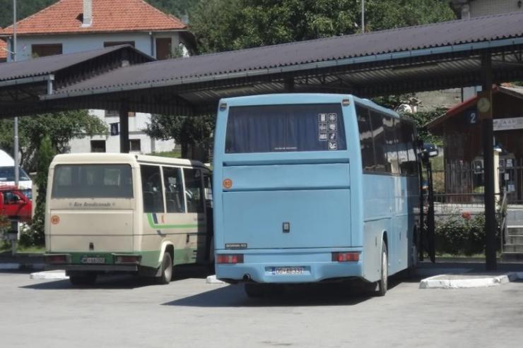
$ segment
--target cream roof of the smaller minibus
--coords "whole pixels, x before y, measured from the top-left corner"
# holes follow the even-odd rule
[[[186,160],[182,158],[160,157],[150,155],[137,155],[129,153],[69,153],[64,155],[56,155],[53,159],[52,164],[139,162],[206,168],[206,166],[202,162],[196,160]]]

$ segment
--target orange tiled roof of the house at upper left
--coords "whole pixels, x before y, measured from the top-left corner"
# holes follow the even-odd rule
[[[18,35],[180,30],[187,25],[143,0],[93,0],[93,24],[82,27],[83,0],[60,0],[20,20]],[[12,26],[0,35],[11,34]]]

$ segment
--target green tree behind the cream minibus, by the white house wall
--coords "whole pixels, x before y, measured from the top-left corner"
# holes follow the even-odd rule
[[[69,142],[74,138],[85,138],[107,134],[107,124],[87,110],[56,112],[30,117],[20,117],[18,133],[20,164],[27,170],[35,169],[35,154],[42,136],[49,136],[52,147],[58,153],[69,151]],[[0,120],[0,148],[13,153],[13,120]]]

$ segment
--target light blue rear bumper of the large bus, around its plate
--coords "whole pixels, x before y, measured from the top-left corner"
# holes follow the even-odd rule
[[[333,262],[332,252],[360,252],[358,262]],[[217,251],[217,254],[231,253],[230,250]],[[226,282],[254,281],[265,283],[307,283],[321,282],[351,277],[364,277],[361,248],[326,249],[315,251],[301,250],[235,250],[243,253],[244,262],[234,265],[216,264],[216,277]],[[300,275],[276,275],[277,267],[298,267]]]

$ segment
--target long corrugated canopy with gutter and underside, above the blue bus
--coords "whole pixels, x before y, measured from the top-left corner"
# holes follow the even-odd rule
[[[522,12],[137,64],[40,94],[39,107],[119,109],[124,102],[136,112],[196,115],[238,95],[372,97],[465,87],[481,84],[484,54],[494,83],[523,79]]]

